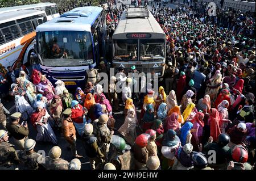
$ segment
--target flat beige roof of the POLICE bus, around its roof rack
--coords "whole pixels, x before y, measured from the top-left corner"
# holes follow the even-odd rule
[[[121,33],[162,33],[165,36],[151,12],[149,12],[148,18],[126,18],[126,10],[115,28],[113,38]]]

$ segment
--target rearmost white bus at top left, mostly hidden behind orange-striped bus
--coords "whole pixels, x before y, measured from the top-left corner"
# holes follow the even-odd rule
[[[18,10],[39,10],[45,11],[47,15],[47,20],[57,18],[60,16],[59,11],[57,10],[56,4],[51,2],[38,3],[34,5],[22,5],[22,6],[13,6],[13,7],[3,7],[0,8],[0,14],[5,12],[13,12]]]

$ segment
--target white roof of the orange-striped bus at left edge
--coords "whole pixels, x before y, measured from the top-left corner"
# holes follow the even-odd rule
[[[13,12],[5,12],[0,16],[0,24],[5,22],[10,22],[16,19],[26,18],[28,16],[38,15],[38,14],[46,14],[46,12],[38,11],[38,10],[19,10],[19,11],[13,11]]]

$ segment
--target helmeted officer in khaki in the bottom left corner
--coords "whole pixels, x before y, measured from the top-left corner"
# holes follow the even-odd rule
[[[8,132],[0,129],[0,170],[18,169],[20,163],[14,145],[9,144]]]

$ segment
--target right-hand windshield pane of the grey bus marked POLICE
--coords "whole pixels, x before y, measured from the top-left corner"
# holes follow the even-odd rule
[[[163,60],[164,40],[163,39],[141,39],[140,58],[141,60]]]

